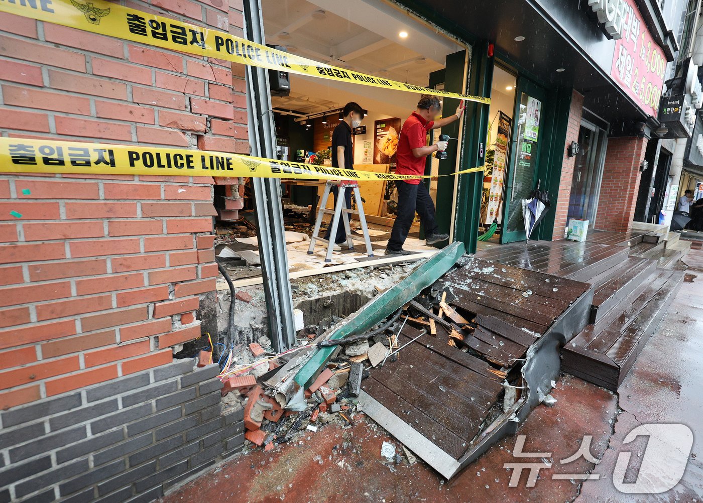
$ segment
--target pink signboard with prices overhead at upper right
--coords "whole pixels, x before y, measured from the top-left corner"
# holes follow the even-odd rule
[[[615,41],[610,75],[648,115],[657,116],[666,57],[654,42],[634,0],[622,0],[621,39]]]

